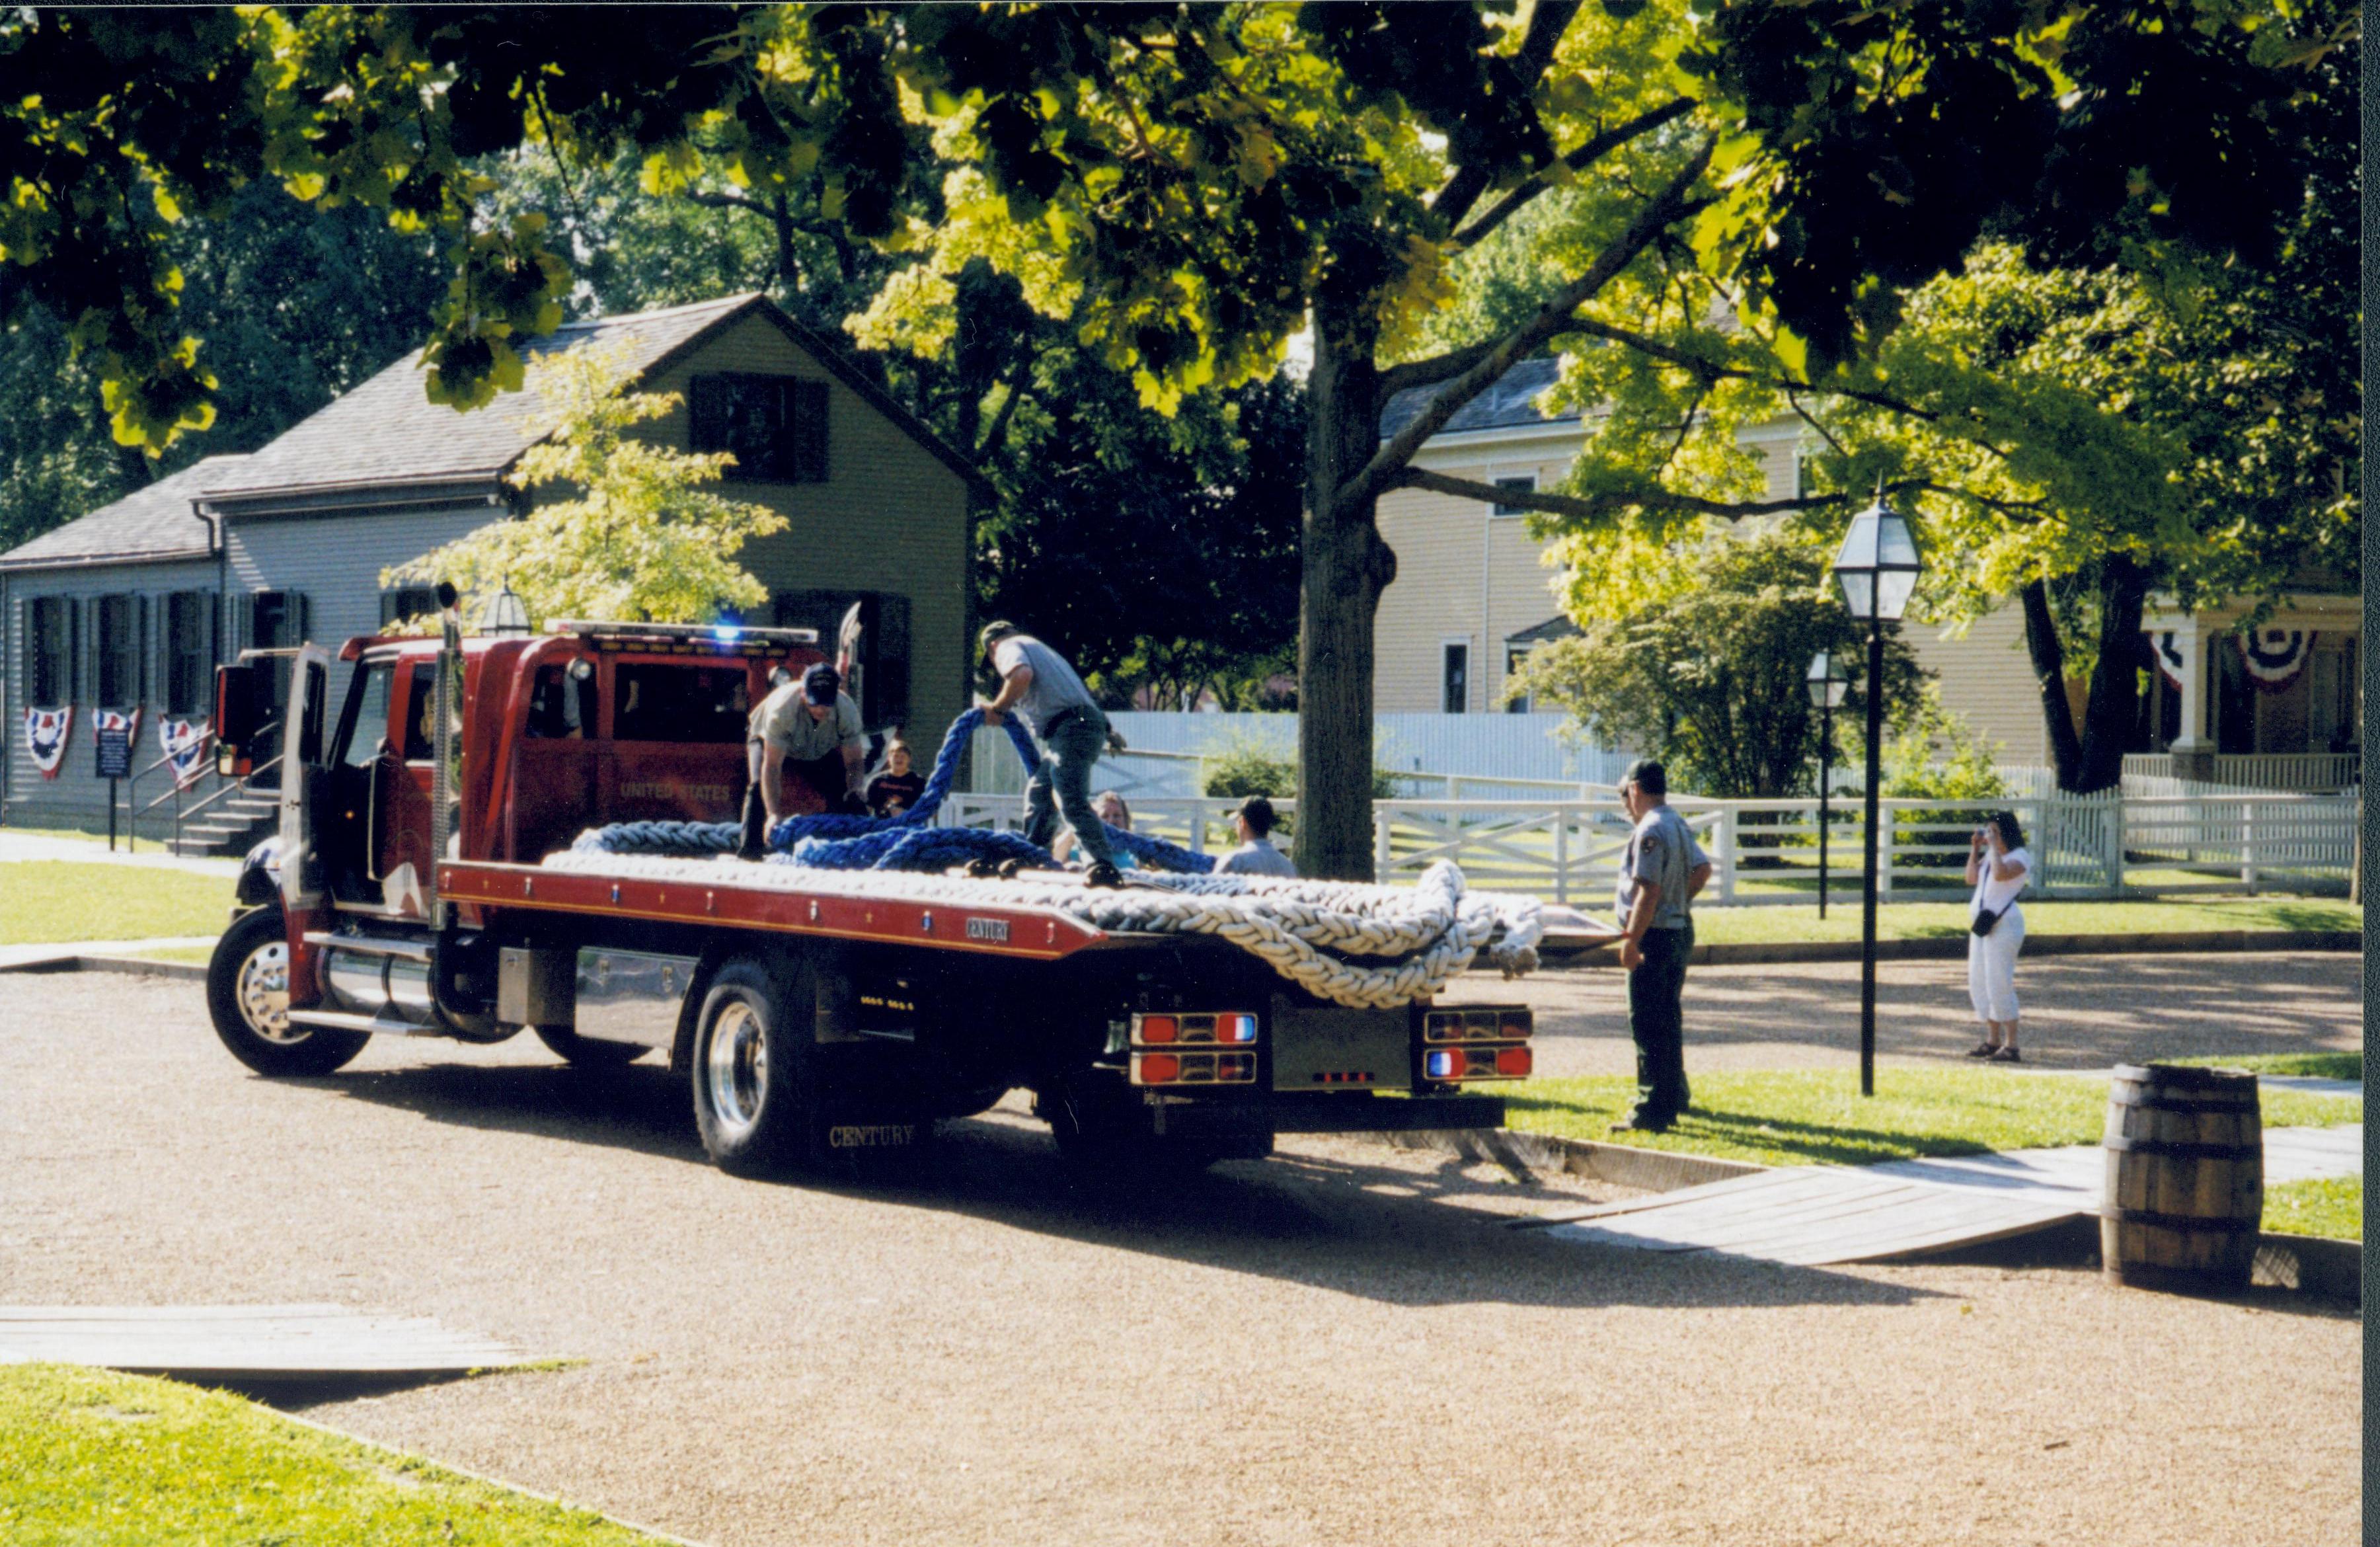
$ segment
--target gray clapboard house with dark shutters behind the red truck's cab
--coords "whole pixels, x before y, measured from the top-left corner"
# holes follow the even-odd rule
[[[969,462],[764,295],[569,324],[531,352],[569,347],[612,350],[640,388],[678,393],[643,433],[735,452],[724,493],[790,519],[740,555],[771,593],[747,621],[833,638],[859,602],[869,724],[935,745],[969,695],[971,521],[988,497]],[[0,821],[105,823],[98,712],[140,709],[133,764],[148,766],[162,721],[209,716],[217,662],[336,647],[421,612],[426,597],[383,588],[383,569],[526,509],[505,476],[540,433],[536,369],[528,390],[469,414],[421,388],[416,352],[257,452],[207,457],[0,555]],[[69,707],[45,776],[38,712],[55,728]],[[167,788],[150,774],[138,802]],[[243,821],[214,826],[224,847],[245,838]]]

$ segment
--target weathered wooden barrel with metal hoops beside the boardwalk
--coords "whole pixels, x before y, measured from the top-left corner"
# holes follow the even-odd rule
[[[2118,1064],[2099,1211],[2106,1276],[2149,1290],[2244,1290],[2261,1223],[2256,1076]]]

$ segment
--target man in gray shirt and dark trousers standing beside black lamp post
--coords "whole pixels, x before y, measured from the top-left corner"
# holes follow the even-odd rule
[[[1628,969],[1628,1035],[1637,1045],[1637,1104],[1614,1133],[1664,1133],[1685,1111],[1685,959],[1695,950],[1690,902],[1711,878],[1711,859],[1685,819],[1668,809],[1668,769],[1649,757],[1628,764],[1621,802],[1635,821],[1621,854],[1614,912]]]

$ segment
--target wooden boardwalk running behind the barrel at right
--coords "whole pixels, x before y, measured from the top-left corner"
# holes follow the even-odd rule
[[[2273,1128],[2268,1183],[2363,1171],[2363,1126]],[[1726,1252],[1799,1266],[1983,1245],[2099,1214],[2097,1145],[1885,1166],[1778,1166],[1699,1188],[1523,1221],[1559,1240],[1645,1252]]]

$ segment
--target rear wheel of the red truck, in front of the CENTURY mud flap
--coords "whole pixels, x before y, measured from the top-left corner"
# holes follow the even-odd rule
[[[752,957],[712,976],[695,1023],[695,1126],[721,1171],[766,1176],[804,1152],[809,1026],[788,1007],[809,1004],[807,988],[807,964],[771,971]]]

